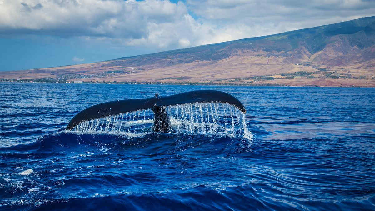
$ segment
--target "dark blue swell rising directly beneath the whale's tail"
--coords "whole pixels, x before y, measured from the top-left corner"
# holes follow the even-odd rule
[[[42,131],[40,131],[42,133]],[[77,133],[72,131],[60,131],[54,134],[46,134],[41,136],[35,142],[28,144],[19,144],[9,147],[0,148],[1,151],[58,151],[61,148],[74,148],[82,146],[94,146],[96,148],[115,148],[122,149],[125,146],[143,146],[145,144],[152,144],[153,142],[174,143],[178,146],[173,150],[186,150],[193,146],[200,146],[203,144],[217,146],[217,150],[222,152],[237,152],[246,150],[251,146],[248,139],[236,138],[230,134],[168,134],[168,133],[113,133],[105,132],[97,133]],[[230,147],[228,147],[230,146]],[[230,152],[229,152],[230,151]],[[3,155],[4,156],[4,155]],[[9,155],[7,155],[9,156]],[[14,154],[12,156],[17,156]]]

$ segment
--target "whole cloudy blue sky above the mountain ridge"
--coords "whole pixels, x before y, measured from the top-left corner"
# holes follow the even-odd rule
[[[375,15],[375,0],[0,0],[0,71],[98,62]]]

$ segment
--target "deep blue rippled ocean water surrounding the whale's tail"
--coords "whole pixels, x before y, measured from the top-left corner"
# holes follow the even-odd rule
[[[63,130],[196,89],[243,102],[252,139]],[[0,83],[0,210],[374,210],[374,105],[373,88]]]

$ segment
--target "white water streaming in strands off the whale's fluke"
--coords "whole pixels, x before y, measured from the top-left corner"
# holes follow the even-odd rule
[[[252,139],[245,115],[233,105],[202,102],[167,106],[172,133],[229,134]],[[153,112],[140,110],[81,122],[75,132],[142,133],[151,131]]]

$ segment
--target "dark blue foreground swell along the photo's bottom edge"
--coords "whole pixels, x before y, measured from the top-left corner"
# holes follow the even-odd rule
[[[262,190],[257,184],[240,185],[224,189],[198,185],[184,190],[174,190],[162,193],[121,193],[111,195],[93,194],[85,198],[63,199],[19,199],[3,205],[5,209],[33,210],[309,210],[346,209],[353,207],[366,210],[373,206],[374,194],[367,197],[343,199],[335,202],[315,198],[306,194],[287,196],[280,191],[277,196]],[[106,206],[103,206],[103,205]]]

